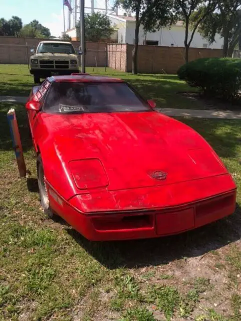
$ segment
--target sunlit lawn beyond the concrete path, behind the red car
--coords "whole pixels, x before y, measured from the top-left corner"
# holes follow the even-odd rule
[[[194,91],[176,75],[138,75],[112,70],[92,68],[87,72],[115,76],[133,85],[146,99],[155,99],[158,107],[202,109],[203,104],[188,99],[178,92]],[[28,96],[33,86],[33,76],[27,65],[0,65],[0,95]]]

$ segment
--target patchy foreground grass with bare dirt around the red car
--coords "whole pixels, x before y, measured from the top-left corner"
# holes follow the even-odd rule
[[[30,81],[15,80],[9,90],[27,94],[32,78],[19,77]],[[26,179],[18,179],[6,117],[11,107],[30,171]],[[240,120],[182,119],[232,173],[238,186],[232,216],[177,236],[105,243],[45,217],[24,106],[1,103],[0,121],[0,320],[241,319]]]

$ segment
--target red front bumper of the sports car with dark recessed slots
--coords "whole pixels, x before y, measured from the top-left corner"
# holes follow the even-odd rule
[[[178,234],[230,215],[236,190],[182,205],[99,213],[80,212],[48,185],[50,205],[75,230],[91,241],[154,238]],[[201,191],[199,191],[200,194]]]

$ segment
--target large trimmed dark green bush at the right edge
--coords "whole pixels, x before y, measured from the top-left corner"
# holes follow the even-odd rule
[[[201,58],[179,68],[178,77],[205,94],[236,100],[241,89],[241,59]]]

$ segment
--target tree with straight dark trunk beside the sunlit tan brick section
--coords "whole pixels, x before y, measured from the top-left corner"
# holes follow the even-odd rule
[[[135,13],[135,43],[132,53],[132,73],[137,74],[137,54],[139,45],[139,30],[154,32],[161,27],[171,25],[175,16],[173,14],[173,0],[117,0],[116,6],[122,6],[127,12]]]

